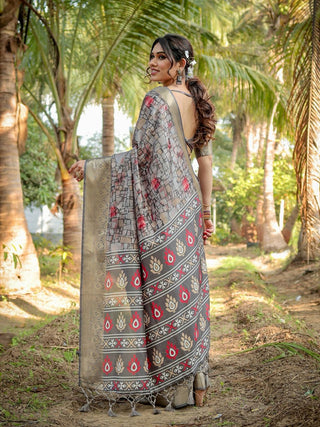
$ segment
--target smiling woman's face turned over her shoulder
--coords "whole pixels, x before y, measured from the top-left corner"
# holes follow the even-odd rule
[[[157,43],[150,54],[149,67],[151,74],[150,80],[152,82],[159,82],[162,83],[163,86],[169,86],[174,83],[176,79],[179,65],[177,62],[174,62],[171,67],[170,60],[164,53],[160,43]]]

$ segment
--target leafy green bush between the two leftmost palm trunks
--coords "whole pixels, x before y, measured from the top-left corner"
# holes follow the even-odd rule
[[[26,152],[20,158],[20,174],[25,206],[52,206],[58,185],[56,161],[32,119],[28,121]]]

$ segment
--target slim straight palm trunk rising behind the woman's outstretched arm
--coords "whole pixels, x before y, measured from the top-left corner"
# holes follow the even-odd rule
[[[102,100],[102,155],[114,153],[114,95]]]

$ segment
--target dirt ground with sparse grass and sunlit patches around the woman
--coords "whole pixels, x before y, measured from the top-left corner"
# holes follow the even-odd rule
[[[245,245],[206,252],[212,384],[202,408],[138,405],[130,418],[121,403],[111,418],[99,402],[79,412],[79,285],[62,282],[0,299],[0,425],[320,426],[320,263],[285,267],[288,254]]]

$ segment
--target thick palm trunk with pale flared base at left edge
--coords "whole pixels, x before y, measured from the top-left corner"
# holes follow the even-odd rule
[[[0,14],[0,286],[30,291],[40,286],[37,254],[24,215],[20,180],[15,54],[20,1]]]

